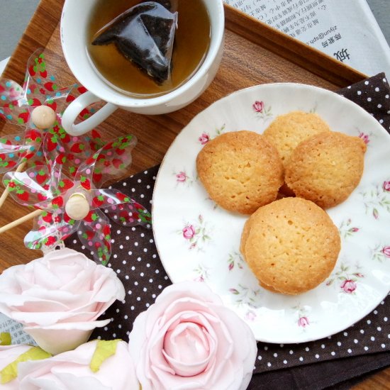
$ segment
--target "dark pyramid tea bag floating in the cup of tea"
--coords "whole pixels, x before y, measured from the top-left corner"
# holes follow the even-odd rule
[[[177,1],[177,0],[176,0]],[[174,1],[145,1],[122,13],[102,29],[92,45],[116,45],[157,84],[170,81],[178,13]]]

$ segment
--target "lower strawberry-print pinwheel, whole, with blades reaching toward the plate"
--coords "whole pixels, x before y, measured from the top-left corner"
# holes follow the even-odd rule
[[[71,179],[62,172],[54,155],[52,164],[25,172],[8,172],[4,184],[13,199],[24,206],[35,206],[42,213],[24,239],[31,249],[45,250],[61,245],[72,233],[91,250],[96,262],[107,264],[111,256],[111,221],[124,226],[150,227],[150,213],[116,189],[101,189],[105,182],[128,174],[133,135],[107,143],[82,162]],[[54,158],[55,157],[55,158]],[[104,210],[101,211],[101,210]]]

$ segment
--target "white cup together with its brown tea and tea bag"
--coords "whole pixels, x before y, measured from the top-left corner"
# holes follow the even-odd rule
[[[62,50],[89,91],[67,107],[62,126],[81,135],[119,107],[161,114],[190,104],[216,75],[223,33],[222,0],[66,0]],[[140,36],[146,37],[143,44],[136,41]],[[107,104],[74,123],[85,107],[101,100]]]

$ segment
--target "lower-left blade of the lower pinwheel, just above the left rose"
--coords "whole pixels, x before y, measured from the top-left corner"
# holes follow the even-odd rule
[[[55,248],[69,235],[76,232],[80,221],[74,221],[66,213],[43,211],[34,219],[34,226],[24,238],[29,249]]]

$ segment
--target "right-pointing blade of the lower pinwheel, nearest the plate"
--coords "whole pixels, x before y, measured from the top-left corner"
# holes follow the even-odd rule
[[[152,217],[149,211],[130,196],[116,189],[95,189],[89,191],[91,208],[104,208],[111,221],[123,226],[144,225],[150,227]]]

